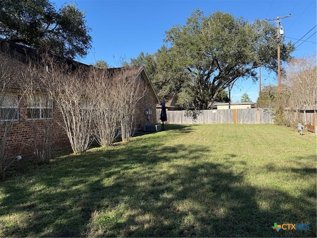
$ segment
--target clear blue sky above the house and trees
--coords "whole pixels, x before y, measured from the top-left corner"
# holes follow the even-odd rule
[[[184,25],[197,8],[208,16],[223,11],[234,17],[254,22],[256,19],[281,19],[286,42],[292,41],[295,58],[316,53],[316,0],[53,0],[59,8],[63,3],[76,2],[85,11],[87,25],[92,29],[92,50],[86,58],[76,59],[93,64],[105,60],[110,66],[120,66],[141,52],[153,54],[163,45],[165,31],[173,25]],[[271,21],[276,25],[275,21]],[[261,70],[262,84],[277,84],[277,75]],[[232,89],[232,102],[247,93],[252,101],[259,96],[259,82],[239,80]]]

